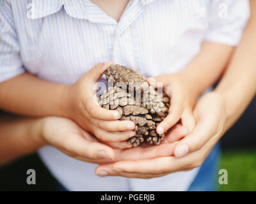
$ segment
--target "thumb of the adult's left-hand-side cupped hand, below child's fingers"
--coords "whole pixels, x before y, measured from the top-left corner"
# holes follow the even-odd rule
[[[81,156],[88,159],[114,159],[115,152],[111,147],[99,142],[89,142],[77,133],[68,133],[63,136],[60,148],[66,150],[72,156]]]

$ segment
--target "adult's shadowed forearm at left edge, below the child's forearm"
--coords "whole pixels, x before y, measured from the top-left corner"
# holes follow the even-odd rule
[[[34,152],[44,145],[41,119],[0,115],[0,165]]]

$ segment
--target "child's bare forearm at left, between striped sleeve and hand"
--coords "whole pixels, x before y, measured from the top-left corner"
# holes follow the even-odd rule
[[[23,73],[0,84],[0,108],[36,117],[65,116],[62,99],[66,87]]]

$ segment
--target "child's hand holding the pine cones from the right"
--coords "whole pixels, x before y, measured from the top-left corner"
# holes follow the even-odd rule
[[[188,135],[195,128],[193,107],[198,95],[189,89],[186,79],[181,73],[174,73],[148,78],[148,83],[153,87],[163,86],[171,99],[168,116],[157,126],[157,133],[164,133],[171,128],[168,142],[175,142]]]

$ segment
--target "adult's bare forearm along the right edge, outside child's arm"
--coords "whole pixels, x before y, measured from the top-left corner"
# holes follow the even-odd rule
[[[252,17],[244,30],[230,66],[216,87],[225,99],[227,125],[230,128],[244,112],[256,93],[256,3],[251,1]]]

